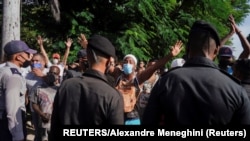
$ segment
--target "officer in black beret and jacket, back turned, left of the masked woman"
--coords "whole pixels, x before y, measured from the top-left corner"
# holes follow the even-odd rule
[[[89,69],[83,77],[65,80],[55,96],[51,135],[62,125],[121,125],[124,123],[123,98],[105,75],[115,57],[115,48],[105,37],[94,35],[88,40]],[[52,138],[51,138],[52,137]]]

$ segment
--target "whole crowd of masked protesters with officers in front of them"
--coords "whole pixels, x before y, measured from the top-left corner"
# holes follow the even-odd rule
[[[62,59],[58,53],[49,59],[41,36],[39,52],[10,41],[0,67],[0,141],[26,139],[27,112],[35,141],[56,140],[63,125],[250,125],[250,44],[233,16],[229,22],[220,39],[211,23],[196,21],[185,57],[176,58],[183,48],[177,41],[169,54],[149,61],[134,54],[119,61],[101,35],[80,34],[72,64],[70,38]],[[243,47],[237,60],[225,45],[235,33]]]

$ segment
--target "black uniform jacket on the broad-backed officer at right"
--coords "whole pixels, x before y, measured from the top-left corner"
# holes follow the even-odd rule
[[[213,61],[195,57],[167,72],[152,89],[142,124],[250,124],[245,89]]]

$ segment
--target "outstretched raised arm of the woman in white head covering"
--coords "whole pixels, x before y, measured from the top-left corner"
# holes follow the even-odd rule
[[[170,61],[173,57],[177,56],[183,48],[182,44],[182,41],[177,41],[175,45],[171,47],[171,51],[167,56],[159,59],[154,65],[147,67],[143,72],[139,73],[137,75],[139,84],[141,85],[143,82],[148,80],[156,70],[164,67],[164,65],[168,61]]]

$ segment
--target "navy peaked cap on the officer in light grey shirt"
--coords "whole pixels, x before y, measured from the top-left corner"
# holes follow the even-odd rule
[[[8,42],[4,46],[4,52],[7,55],[13,55],[19,52],[27,52],[29,54],[37,53],[36,50],[29,48],[28,45],[24,41],[21,41],[21,40],[12,40]]]

